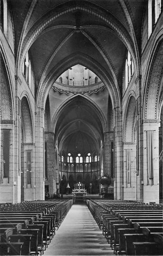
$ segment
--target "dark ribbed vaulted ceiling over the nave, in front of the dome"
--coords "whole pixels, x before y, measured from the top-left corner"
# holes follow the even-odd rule
[[[135,60],[135,69],[139,68],[142,0],[9,2],[14,16],[16,53],[19,50],[17,68],[30,49],[37,86],[59,63],[69,56],[75,59],[76,54],[94,60],[97,67],[99,64],[120,90],[126,47]]]

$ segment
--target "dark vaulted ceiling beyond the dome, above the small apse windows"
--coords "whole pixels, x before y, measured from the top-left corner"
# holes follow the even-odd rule
[[[98,152],[103,139],[100,119],[90,102],[83,97],[75,97],[62,109],[56,123],[54,133],[61,152]]]

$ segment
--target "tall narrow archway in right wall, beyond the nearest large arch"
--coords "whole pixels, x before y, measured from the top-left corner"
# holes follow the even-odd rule
[[[137,123],[136,99],[131,94],[124,118],[124,199],[137,200]],[[134,192],[133,192],[134,191]],[[133,193],[131,195],[131,193]]]

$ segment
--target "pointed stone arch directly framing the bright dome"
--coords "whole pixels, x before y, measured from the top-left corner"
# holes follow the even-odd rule
[[[66,71],[69,67],[73,65],[83,65],[85,66],[87,63],[87,68],[94,72],[98,77],[102,80],[102,82],[107,87],[109,91],[112,108],[120,108],[121,109],[121,97],[119,89],[115,86],[112,78],[104,67],[97,62],[95,59],[92,59],[90,56],[84,53],[76,52],[68,57],[65,57],[62,61],[60,61],[53,69],[49,72],[49,74],[44,79],[43,83],[40,84],[36,97],[36,111],[37,108],[45,109],[46,98],[48,97],[48,93],[53,83],[57,80],[57,78]]]

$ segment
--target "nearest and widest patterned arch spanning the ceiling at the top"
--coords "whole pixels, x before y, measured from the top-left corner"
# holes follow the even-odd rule
[[[63,11],[64,10],[64,11]],[[118,21],[110,12],[106,12],[99,5],[88,3],[88,1],[80,1],[80,3],[76,4],[76,1],[70,1],[69,4],[63,3],[58,5],[57,7],[47,12],[46,15],[41,17],[35,22],[35,24],[29,30],[29,36],[22,38],[21,47],[20,47],[20,55],[17,60],[17,68],[20,70],[22,66],[22,60],[33,44],[33,42],[37,39],[37,37],[45,32],[50,25],[54,23],[54,20],[61,17],[62,15],[69,14],[75,11],[82,11],[88,15],[92,15],[98,18],[99,23],[104,23],[106,29],[114,31],[114,33],[121,39],[121,41],[126,45],[130,53],[132,54],[132,58],[134,59],[134,65],[136,69],[139,69],[139,63],[136,59],[135,55],[137,55],[136,45],[133,44],[133,39],[129,33],[129,31],[125,28],[122,23]],[[139,73],[139,72],[137,72]]]

